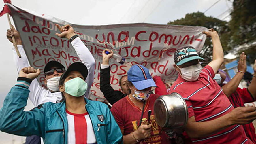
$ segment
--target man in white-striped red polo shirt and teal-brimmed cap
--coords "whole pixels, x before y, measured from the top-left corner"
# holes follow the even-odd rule
[[[202,144],[247,144],[252,143],[239,124],[246,124],[256,118],[255,107],[234,109],[221,87],[214,81],[215,73],[223,63],[223,50],[216,31],[205,33],[212,37],[213,60],[201,67],[197,51],[192,46],[174,53],[178,79],[170,88],[186,101],[189,119],[185,131],[193,143]]]

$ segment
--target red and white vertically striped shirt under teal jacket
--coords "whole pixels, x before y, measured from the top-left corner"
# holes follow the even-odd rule
[[[66,109],[68,144],[97,144],[93,126],[88,113],[75,114]]]

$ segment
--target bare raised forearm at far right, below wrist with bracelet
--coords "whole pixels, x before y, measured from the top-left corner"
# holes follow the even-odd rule
[[[244,73],[238,72],[227,84],[222,86],[223,92],[227,97],[229,97],[231,94],[233,94],[236,91],[243,76],[244,76]]]

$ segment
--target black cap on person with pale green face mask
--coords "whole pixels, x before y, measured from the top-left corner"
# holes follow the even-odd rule
[[[65,71],[65,73],[61,75],[59,85],[63,85],[64,80],[67,78],[68,74],[71,71],[79,71],[84,77],[84,79],[86,79],[88,75],[88,69],[82,62],[74,62],[67,68],[67,71]]]

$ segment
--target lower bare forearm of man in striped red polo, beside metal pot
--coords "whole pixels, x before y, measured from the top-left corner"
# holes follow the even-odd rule
[[[188,122],[185,131],[191,138],[207,137],[224,130],[232,124],[227,115],[207,122]]]

